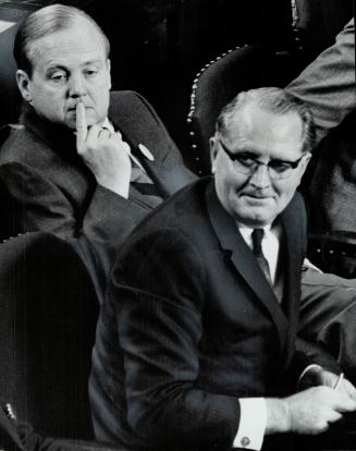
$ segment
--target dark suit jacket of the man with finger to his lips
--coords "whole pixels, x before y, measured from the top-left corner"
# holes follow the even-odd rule
[[[193,180],[162,122],[138,94],[112,93],[109,118],[133,154],[144,144],[154,155],[149,161],[137,153],[161,197]],[[118,247],[150,205],[133,187],[125,199],[98,185],[77,156],[73,132],[49,124],[32,108],[22,122],[24,127],[13,130],[0,151],[0,182],[12,200],[3,215],[8,233],[40,230],[64,239],[84,236],[108,272]]]

